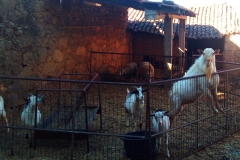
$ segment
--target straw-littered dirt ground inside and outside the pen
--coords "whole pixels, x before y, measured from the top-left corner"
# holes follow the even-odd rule
[[[127,86],[107,86],[103,85],[101,86],[101,95],[102,95],[102,120],[103,120],[103,129],[101,132],[104,133],[111,133],[111,134],[124,134],[127,132],[131,131],[130,127],[126,127],[126,113],[125,109],[123,108],[122,104],[124,103],[125,100],[125,95],[126,95],[126,87]],[[90,92],[91,93],[91,92]],[[89,101],[94,102],[96,101],[96,92],[93,90],[93,96],[88,96]],[[151,90],[151,113],[155,110],[157,110],[159,107],[162,109],[167,109],[168,105],[168,89],[163,89],[161,86],[157,86],[155,88],[152,88]],[[49,96],[50,97],[50,96]],[[228,105],[229,107],[232,107],[236,104],[239,104],[239,102],[233,100],[236,99],[235,96],[228,97]],[[51,98],[49,98],[49,101]],[[52,103],[55,101],[51,101]],[[230,102],[232,104],[230,104]],[[47,102],[45,102],[46,107],[46,113],[49,110],[49,107],[47,107]],[[201,99],[201,101],[198,102],[198,106],[201,110],[199,110],[199,116],[208,116],[212,113],[211,109],[204,107],[208,105],[209,103],[204,99],[204,97]],[[220,102],[221,105],[223,105],[223,101]],[[54,106],[54,105],[50,105]],[[194,104],[189,106],[188,108],[185,108],[184,112],[181,112],[179,115],[178,119],[175,119],[175,125],[182,125],[189,123],[190,121],[194,120],[195,118],[195,109]],[[42,115],[44,114],[43,108],[41,108]],[[235,125],[238,125],[238,112],[233,110],[233,113],[229,113],[232,115],[232,119],[235,120],[236,122]],[[235,115],[236,114],[236,115]],[[46,115],[45,115],[46,116]],[[19,118],[19,116],[17,116]],[[200,123],[199,129],[200,129],[200,134],[199,136],[202,136],[205,138],[201,143],[206,144],[209,139],[214,139],[215,137],[219,137],[219,134],[225,133],[224,126],[221,126],[222,122],[225,121],[224,116],[218,116],[219,118],[214,119],[214,121],[211,120],[206,120],[203,123]],[[16,118],[16,117],[15,117]],[[213,123],[216,122],[216,123]],[[4,122],[1,122],[3,124]],[[145,126],[145,123],[143,124],[143,127]],[[99,115],[94,118],[92,121],[90,127],[92,129],[99,129]],[[220,128],[216,130],[216,128]],[[196,134],[195,132],[196,126],[191,125],[186,128],[182,128],[177,130],[176,132],[172,132],[170,139],[172,142],[171,147],[169,147],[170,152],[175,154],[176,156],[180,154],[181,148],[187,148],[188,150],[191,149],[192,145],[195,145],[194,141],[194,136]],[[211,129],[215,129],[214,131],[211,132]],[[187,133],[185,133],[187,132]],[[217,133],[216,133],[217,132]],[[3,131],[5,133],[5,131]],[[38,143],[37,152],[33,153],[32,150],[29,150],[25,143],[24,139],[24,133],[23,131],[21,132],[16,132],[15,134],[15,142],[16,142],[16,150],[17,154],[15,156],[7,156],[9,153],[5,152],[4,154],[1,155],[1,150],[0,150],[0,160],[6,159],[6,160],[18,160],[18,159],[68,159],[69,155],[71,154],[71,148],[69,147],[70,144],[65,144],[66,146],[62,147],[59,146],[59,143],[55,144],[54,142],[48,142],[48,141],[40,141]],[[205,135],[209,135],[209,137],[205,137]],[[0,133],[0,144],[2,149],[4,150],[4,146],[7,142],[9,135]],[[9,141],[10,142],[10,141]],[[8,142],[8,143],[9,143]],[[184,143],[185,142],[185,143]],[[49,145],[50,144],[50,145]],[[186,145],[186,146],[184,146]],[[46,147],[48,146],[48,147]],[[123,149],[123,142],[120,140],[119,137],[114,137],[114,136],[92,136],[90,138],[90,149],[91,153],[86,154],[86,142],[81,141],[79,142],[78,147],[76,148],[76,155],[75,159],[86,159],[86,160],[91,160],[91,159],[111,159],[111,160],[126,160],[125,155],[124,155],[124,149]],[[27,155],[26,155],[27,153]],[[109,154],[111,153],[111,154]],[[31,157],[31,156],[34,157]],[[49,158],[48,156],[51,156]],[[157,155],[157,160],[165,159],[165,153]],[[24,157],[24,158],[20,158]],[[55,158],[56,157],[56,158]],[[174,159],[172,157],[171,159]],[[201,151],[195,152],[192,155],[189,155],[188,157],[183,158],[184,160],[198,160],[198,159],[206,159],[206,160],[240,160],[240,131],[228,136],[227,138],[212,144],[211,146],[202,149]]]

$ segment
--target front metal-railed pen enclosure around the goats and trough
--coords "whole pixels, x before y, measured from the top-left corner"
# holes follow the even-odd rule
[[[239,64],[218,63],[232,68],[217,73],[220,76],[218,101],[224,113],[214,114],[209,107],[211,100],[205,95],[185,105],[169,130],[170,159],[181,159],[240,129]],[[52,79],[6,76],[0,79],[5,88],[2,96],[9,119],[9,126],[2,117],[0,121],[1,158],[13,155],[17,159],[35,156],[43,159],[124,160],[131,158],[127,157],[126,147],[135,149],[133,154],[142,159],[166,157],[165,147],[160,153],[155,152],[155,138],[162,133],[152,132],[151,115],[157,109],[169,109],[171,86],[184,78],[123,83],[99,81],[98,74],[92,73],[62,74]],[[126,89],[132,86],[147,89],[144,93],[143,135],[129,135],[132,128],[125,123],[127,116],[123,103]],[[21,124],[24,104],[17,103],[27,93],[44,95],[43,103],[37,104],[42,114],[41,122],[31,128]],[[29,148],[25,139],[26,129],[34,131],[33,148]],[[123,137],[143,143],[124,147]]]

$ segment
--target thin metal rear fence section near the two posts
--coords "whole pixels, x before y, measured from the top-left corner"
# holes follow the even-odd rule
[[[138,65],[141,62],[150,62],[154,67],[154,79],[156,81],[164,79],[164,68],[167,68],[167,71],[171,72],[172,78],[182,77],[186,71],[183,66],[187,66],[188,62],[192,63],[193,59],[182,56],[164,56],[158,54],[143,55],[93,50],[91,50],[90,57],[90,73],[97,72],[100,75],[101,80],[115,82],[133,82],[133,80],[125,79],[124,76],[119,75],[119,71],[123,68],[123,66],[130,62],[135,62]],[[171,63],[165,63],[169,62],[169,59],[171,59]],[[187,61],[186,59],[190,59],[190,61]]]

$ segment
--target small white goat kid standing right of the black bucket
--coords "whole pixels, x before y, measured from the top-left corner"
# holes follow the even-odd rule
[[[164,131],[169,130],[170,128],[170,121],[169,121],[169,117],[166,115],[168,112],[159,109],[157,110],[154,115],[153,115],[153,129],[154,132],[156,133],[161,133]],[[160,152],[160,144],[161,144],[161,137],[165,137],[166,140],[166,154],[168,156],[168,158],[170,157],[170,153],[168,150],[168,132],[163,133],[162,135],[158,135],[156,138],[156,147],[158,148],[158,152]]]

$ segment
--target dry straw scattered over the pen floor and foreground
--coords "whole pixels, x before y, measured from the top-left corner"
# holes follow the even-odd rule
[[[132,131],[131,127],[126,126],[126,113],[123,107],[125,101],[127,86],[113,86],[113,85],[101,85],[101,97],[102,97],[102,121],[103,129],[99,127],[99,115],[93,119],[89,129],[98,133],[111,133],[111,134],[125,134]],[[155,110],[162,108],[168,110],[168,92],[170,88],[162,86],[151,87],[150,92],[150,112],[153,113]],[[237,92],[237,91],[236,91]],[[223,94],[220,94],[221,99],[224,99]],[[88,102],[89,104],[95,103],[97,100],[97,94],[95,91],[89,92]],[[56,101],[51,101],[56,103]],[[72,101],[66,101],[70,103]],[[236,105],[238,100],[236,96],[228,97],[229,105],[232,107]],[[51,104],[52,105],[52,104]],[[49,114],[56,109],[57,106],[45,105],[42,106],[43,117],[48,117]],[[220,105],[224,105],[224,101],[220,101]],[[198,112],[196,108],[198,106]],[[207,117],[212,114],[209,100],[205,96],[201,97],[196,103],[187,105],[182,112],[174,120],[173,127],[190,123],[196,118]],[[51,109],[51,110],[50,110]],[[45,114],[45,115],[44,115]],[[61,115],[65,116],[65,115]],[[239,111],[232,110],[228,112],[229,121],[235,122],[229,126],[229,130],[233,131],[237,129],[236,124],[239,124]],[[145,112],[143,116],[143,128],[145,128]],[[19,121],[19,117],[15,119]],[[170,132],[169,149],[171,152],[172,159],[175,159],[183,154],[192,152],[196,147],[207,145],[208,143],[215,140],[217,137],[221,137],[226,132],[226,116],[224,114],[207,119],[197,124],[192,124],[176,131]],[[59,123],[55,121],[54,123]],[[16,123],[15,125],[20,125]],[[54,128],[58,125],[51,124],[50,127]],[[196,132],[198,128],[199,132]],[[1,142],[1,157],[9,157],[9,159],[68,159],[71,155],[71,141],[66,140],[37,140],[37,149],[34,152],[28,148],[27,141],[24,139],[23,130],[15,130],[14,132],[14,156],[9,156],[9,149],[4,149],[3,146],[10,146],[10,134],[1,136],[0,139],[6,139]],[[196,143],[196,136],[201,137],[198,144]],[[223,142],[218,142],[218,145],[213,144],[211,148],[203,149],[197,153],[190,155],[185,159],[221,159],[223,156],[228,158],[239,158],[239,141],[240,134],[234,134],[234,138],[228,137]],[[8,138],[6,138],[8,137]],[[90,141],[90,153],[86,150],[86,140],[76,141],[77,146],[73,150],[74,159],[126,159],[123,142],[119,137],[116,136],[99,136],[91,135]],[[162,146],[164,149],[165,147]],[[161,150],[157,154],[157,159],[165,158],[165,151]],[[2,159],[2,158],[1,158]]]

